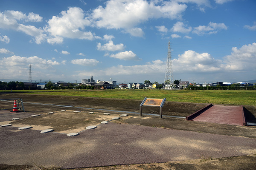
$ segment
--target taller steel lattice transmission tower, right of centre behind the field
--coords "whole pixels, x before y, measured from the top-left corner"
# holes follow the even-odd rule
[[[166,83],[168,82],[168,83]],[[168,42],[168,57],[166,62],[166,75],[164,77],[164,84],[173,84],[173,73],[172,73],[172,53],[170,40]]]

